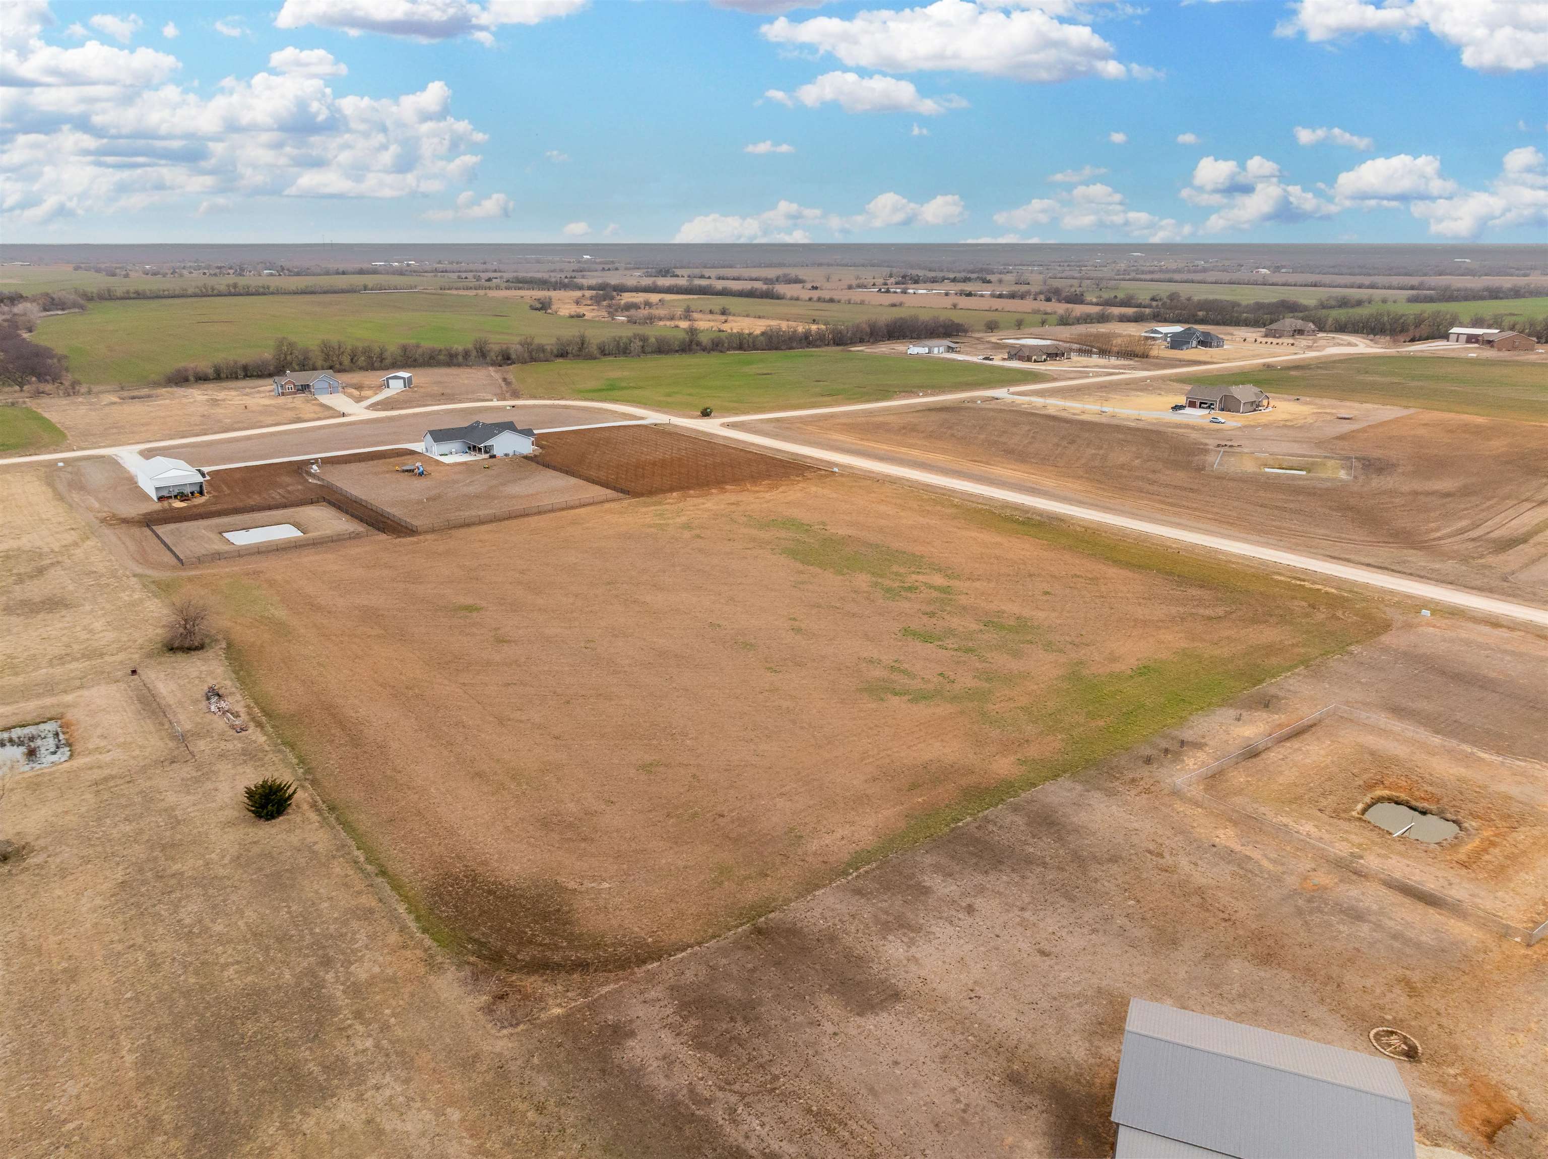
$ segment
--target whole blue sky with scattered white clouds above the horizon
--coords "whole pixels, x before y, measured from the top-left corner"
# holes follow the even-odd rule
[[[0,20],[9,241],[1548,238],[1540,0]]]

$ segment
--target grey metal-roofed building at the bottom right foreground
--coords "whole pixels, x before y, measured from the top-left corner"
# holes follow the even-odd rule
[[[1115,1159],[1415,1159],[1398,1065],[1359,1051],[1128,1001]]]

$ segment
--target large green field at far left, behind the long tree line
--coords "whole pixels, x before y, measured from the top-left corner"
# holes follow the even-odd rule
[[[37,340],[68,356],[70,373],[82,382],[141,385],[187,362],[262,354],[282,336],[302,345],[339,339],[446,347],[467,345],[480,334],[509,342],[577,331],[602,336],[641,328],[539,314],[522,299],[426,291],[94,302],[84,314],[45,317]]]

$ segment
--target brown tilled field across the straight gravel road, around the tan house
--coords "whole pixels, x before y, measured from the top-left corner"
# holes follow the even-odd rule
[[[974,478],[1514,597],[1548,593],[1539,566],[1548,557],[1548,439],[1528,422],[1413,412],[1299,447],[1348,460],[1350,480],[1209,469],[1221,444],[1252,450],[1254,432],[1067,418],[1015,402],[755,429],[935,469],[955,463]],[[1297,450],[1283,429],[1263,438],[1276,452]]]

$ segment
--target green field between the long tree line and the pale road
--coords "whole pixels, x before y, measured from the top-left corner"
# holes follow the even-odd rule
[[[851,350],[539,362],[514,367],[512,373],[528,398],[584,398],[683,412],[714,407],[717,415],[876,402],[907,390],[1009,387],[1046,378],[1000,365]]]

